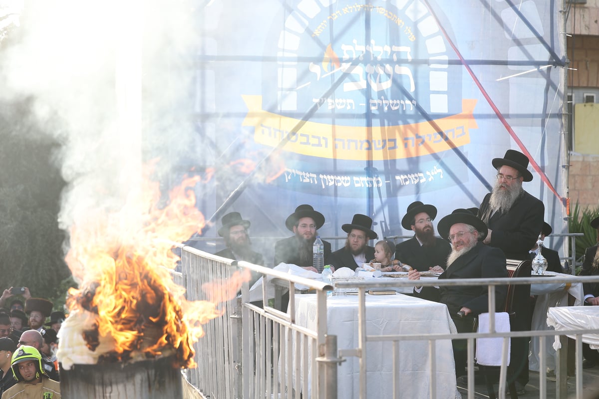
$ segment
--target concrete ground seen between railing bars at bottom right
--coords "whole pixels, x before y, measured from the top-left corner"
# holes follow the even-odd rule
[[[546,381],[547,389],[545,397],[547,399],[555,399],[555,377],[547,377]],[[462,398],[468,397],[468,392],[465,388],[465,386],[462,387],[460,384],[458,384],[458,391],[461,393]],[[497,385],[494,385],[494,388],[495,395],[498,398],[499,394],[497,392]],[[474,394],[475,398],[488,398],[486,385],[484,383],[475,385],[474,389],[476,391],[476,393]],[[539,391],[539,373],[537,373],[536,371],[530,371],[530,382],[528,382],[527,386],[525,386],[525,389],[526,393],[524,395],[518,395],[518,398],[541,398],[541,393]],[[599,399],[599,366],[583,370],[581,395],[576,395],[575,377],[568,377],[567,397],[577,399]],[[509,394],[506,395],[506,398],[509,398]]]

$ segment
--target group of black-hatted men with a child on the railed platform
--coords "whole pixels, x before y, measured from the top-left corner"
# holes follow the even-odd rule
[[[378,239],[372,230],[373,220],[367,215],[355,214],[351,223],[343,224],[347,233],[343,248],[331,250],[331,243],[323,241],[325,264],[332,269],[349,267],[352,270],[363,263],[377,262],[383,270],[402,270],[409,266],[409,278],[420,279],[421,272],[441,273],[440,279],[500,278],[507,277],[506,260],[534,260],[539,253],[537,240],[552,233],[544,221],[544,205],[541,200],[524,190],[523,183],[533,180],[528,170],[525,154],[507,150],[503,157],[492,159],[495,184],[486,194],[479,208],[456,209],[438,222],[435,235],[433,221],[437,208],[420,201],[410,203],[401,226],[412,230],[414,236],[394,245],[379,240],[374,247],[368,245]],[[274,264],[291,263],[313,270],[313,243],[318,230],[325,224],[325,216],[311,205],[299,205],[285,221],[293,234],[279,240],[274,246]],[[252,250],[247,229],[249,220],[238,212],[222,218],[219,235],[225,239],[226,249],[217,255],[233,260],[264,264],[262,255]],[[599,218],[592,222],[599,227]],[[599,231],[599,230],[598,230]],[[599,234],[597,237],[599,242]],[[543,246],[542,255],[548,263],[547,270],[562,272],[559,255]],[[405,270],[405,269],[404,269]],[[585,254],[583,275],[599,274],[599,251],[597,246]],[[506,287],[495,288],[497,309],[503,309]],[[585,286],[585,304],[599,304],[599,284]],[[460,332],[471,332],[473,317],[488,312],[486,287],[416,288],[413,293],[425,299],[440,301],[447,305],[450,315]],[[513,326],[519,330],[530,329],[530,304],[521,307],[520,322]],[[510,375],[515,379],[519,394],[525,392],[528,383],[528,338],[512,339],[512,363]],[[464,343],[454,340],[456,376],[466,374]],[[586,346],[585,367],[599,363],[599,353]],[[593,352],[588,354],[587,352]]]

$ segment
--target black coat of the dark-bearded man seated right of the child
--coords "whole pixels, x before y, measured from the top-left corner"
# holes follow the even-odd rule
[[[427,272],[429,267],[447,267],[447,256],[451,252],[449,241],[437,238],[435,246],[421,246],[416,236],[400,242],[395,246],[395,259],[412,266],[420,272]]]

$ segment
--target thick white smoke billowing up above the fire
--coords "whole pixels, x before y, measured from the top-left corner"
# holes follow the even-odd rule
[[[119,209],[138,187],[146,154],[165,169],[165,160],[184,156],[161,151],[167,138],[192,142],[191,124],[168,114],[189,91],[192,68],[180,80],[156,77],[173,52],[193,55],[195,10],[187,1],[34,0],[22,10],[11,4],[1,12],[20,17],[10,20],[3,42],[0,96],[32,98],[31,111],[62,145],[56,162],[68,187],[59,220],[69,230],[90,214]],[[143,136],[155,126],[160,135]]]

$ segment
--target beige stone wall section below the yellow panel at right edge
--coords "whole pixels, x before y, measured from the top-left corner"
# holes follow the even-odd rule
[[[599,206],[599,155],[570,154],[570,206]]]

